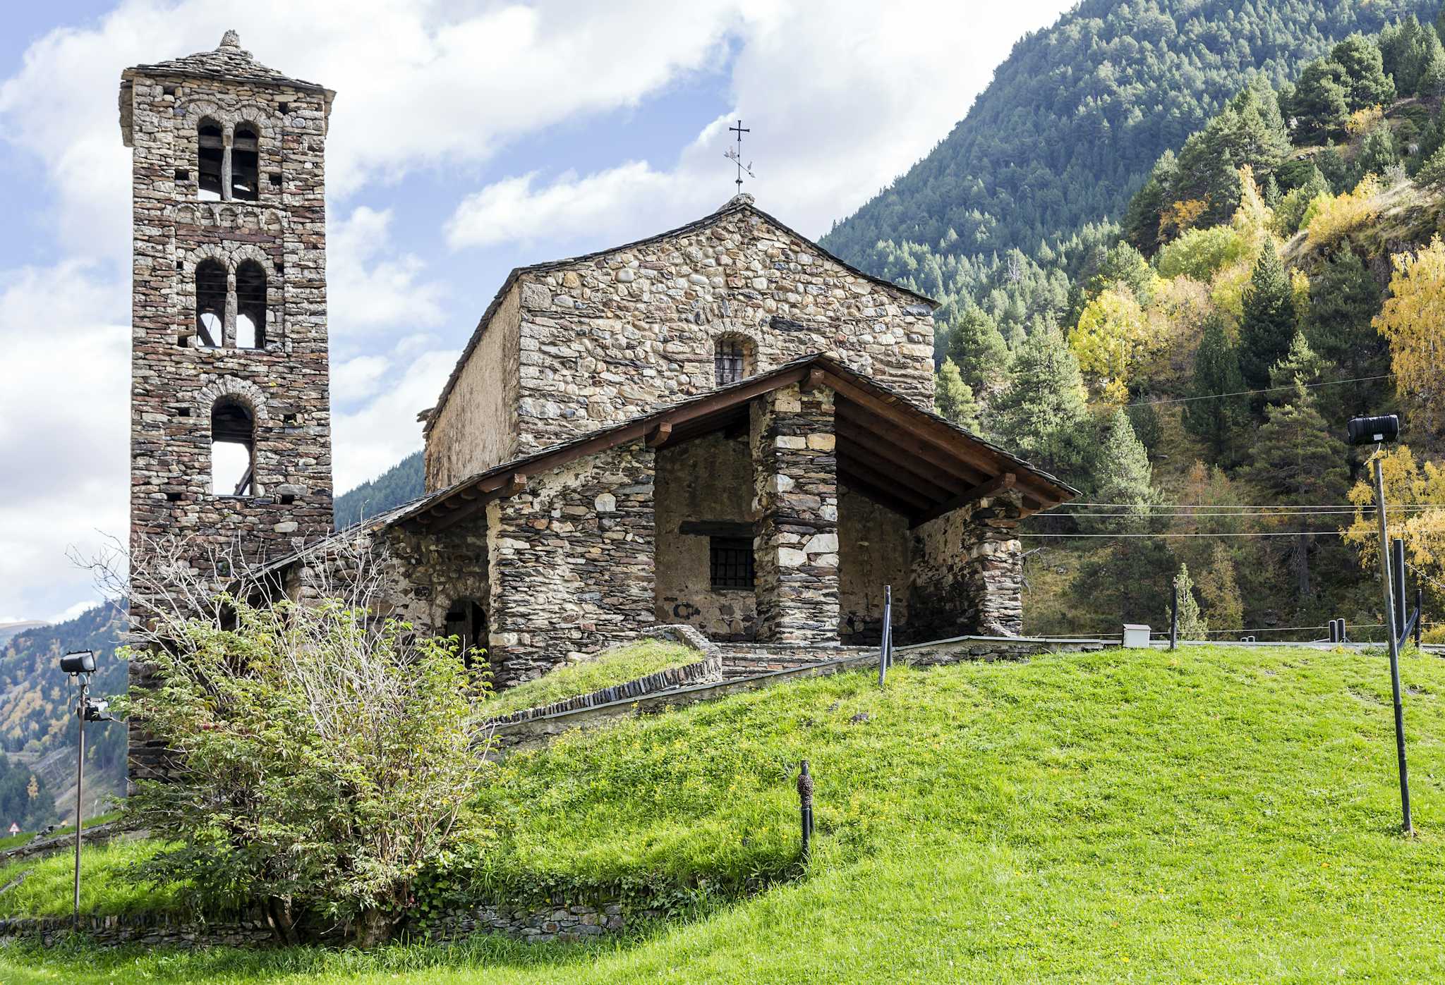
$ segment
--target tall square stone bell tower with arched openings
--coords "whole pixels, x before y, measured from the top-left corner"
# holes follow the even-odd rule
[[[325,142],[335,94],[215,51],[120,77],[133,149],[131,566],[250,562],[331,531]],[[131,591],[131,611],[144,599]],[[131,685],[143,666],[131,663]],[[137,677],[140,680],[137,680]],[[131,735],[136,774],[137,737]]]

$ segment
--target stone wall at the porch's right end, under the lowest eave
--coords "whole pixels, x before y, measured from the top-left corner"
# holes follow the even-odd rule
[[[980,500],[913,531],[909,620],[900,641],[1023,633],[1019,492]]]

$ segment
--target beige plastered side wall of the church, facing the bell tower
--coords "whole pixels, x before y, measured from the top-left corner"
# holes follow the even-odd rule
[[[520,368],[551,360],[535,339],[520,341],[520,290],[513,285],[428,425],[428,492],[516,458]]]

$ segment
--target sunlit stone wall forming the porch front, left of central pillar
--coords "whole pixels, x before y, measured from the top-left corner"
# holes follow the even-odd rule
[[[655,456],[640,441],[529,477],[490,503],[488,608],[510,686],[636,637],[655,621]]]

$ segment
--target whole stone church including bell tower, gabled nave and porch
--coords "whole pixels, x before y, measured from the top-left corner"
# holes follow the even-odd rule
[[[1014,527],[1075,491],[932,413],[932,300],[747,195],[513,270],[420,415],[425,495],[332,533],[332,97],[233,32],[121,77],[133,550],[237,543],[303,598],[328,549],[384,544],[392,612],[501,686],[656,624],[877,643],[884,586],[899,641],[1020,631]]]

